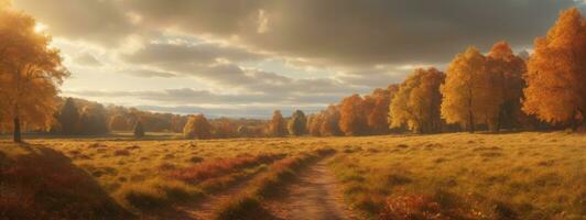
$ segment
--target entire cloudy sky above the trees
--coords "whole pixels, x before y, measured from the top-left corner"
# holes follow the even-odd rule
[[[315,112],[445,69],[468,46],[531,51],[586,0],[13,0],[53,35],[62,96],[208,117]]]

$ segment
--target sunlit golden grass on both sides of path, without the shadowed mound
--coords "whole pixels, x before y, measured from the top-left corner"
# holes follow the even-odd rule
[[[247,155],[291,157],[332,147],[337,153],[330,168],[341,180],[347,205],[367,219],[420,215],[405,209],[413,212],[432,209],[446,219],[580,219],[586,216],[584,134],[32,140],[30,143],[64,153],[119,205],[138,215],[150,215],[145,210],[176,202],[205,201],[206,196],[247,176],[270,173],[273,161],[221,169],[217,175],[206,174],[209,179],[173,178],[172,174],[196,169],[198,164]],[[12,145],[0,143],[2,157],[17,154],[19,150]],[[209,166],[214,167],[206,165]],[[405,208],[408,205],[411,207]]]

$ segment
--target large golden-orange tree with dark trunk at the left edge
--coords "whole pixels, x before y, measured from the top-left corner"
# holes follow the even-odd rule
[[[56,110],[58,86],[68,76],[51,36],[35,31],[35,20],[0,7],[0,118],[21,142],[24,129],[47,129]]]

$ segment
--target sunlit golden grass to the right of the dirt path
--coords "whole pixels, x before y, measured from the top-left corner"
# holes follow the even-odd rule
[[[366,218],[425,209],[427,205],[416,200],[436,204],[436,213],[446,219],[586,215],[585,135],[371,138],[348,141],[343,151],[332,168],[344,183],[348,202]],[[413,207],[397,208],[405,202]]]

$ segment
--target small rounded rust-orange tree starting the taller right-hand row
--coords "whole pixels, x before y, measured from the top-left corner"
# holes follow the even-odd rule
[[[341,100],[339,128],[347,136],[368,133],[365,100],[359,95],[352,95]]]

